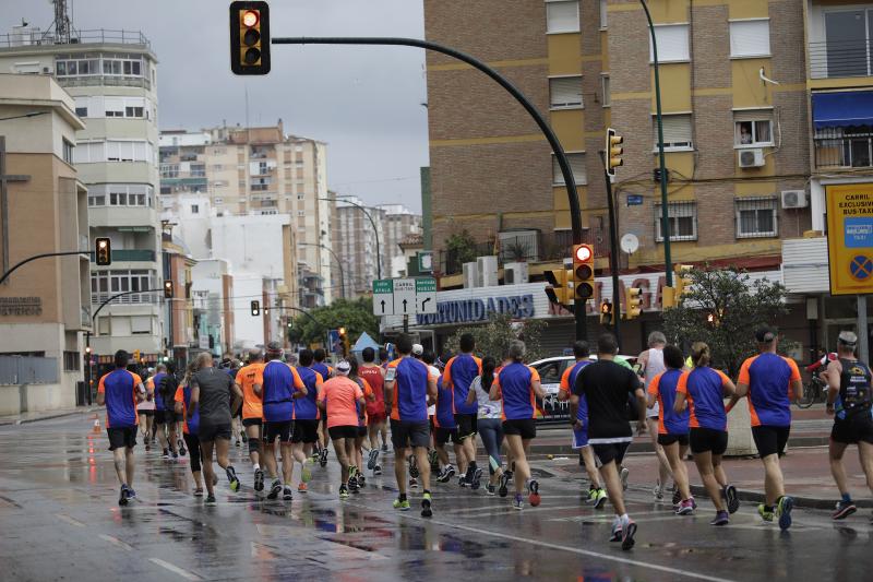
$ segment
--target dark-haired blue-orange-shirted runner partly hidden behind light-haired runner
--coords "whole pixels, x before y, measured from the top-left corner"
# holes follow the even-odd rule
[[[682,377],[685,356],[674,345],[663,347],[663,363],[666,370],[656,375],[648,383],[649,408],[658,404],[658,444],[663,447],[673,482],[681,494],[681,499],[673,509],[677,515],[691,515],[696,503],[689,488],[689,474],[685,468],[685,454],[689,449],[689,412],[673,408],[675,403],[675,389]]]

